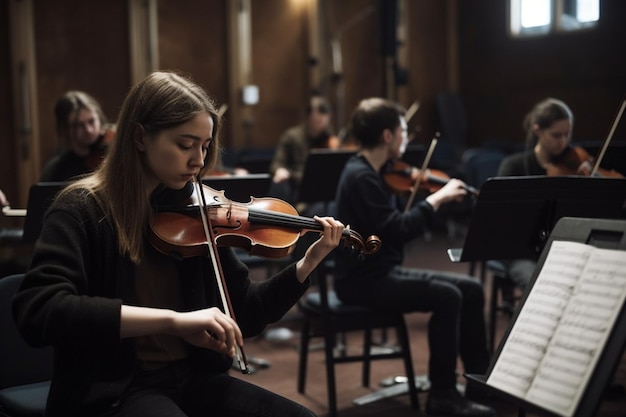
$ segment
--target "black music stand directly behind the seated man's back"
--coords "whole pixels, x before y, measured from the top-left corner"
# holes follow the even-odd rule
[[[312,149],[307,157],[298,190],[299,203],[328,203],[335,200],[339,177],[354,150]]]

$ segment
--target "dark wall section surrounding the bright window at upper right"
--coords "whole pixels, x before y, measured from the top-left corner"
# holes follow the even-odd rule
[[[472,141],[523,142],[521,123],[547,96],[575,114],[574,140],[607,135],[626,93],[626,2],[601,2],[598,28],[549,37],[507,35],[506,2],[460,2],[461,93]],[[614,140],[626,140],[621,123]]]

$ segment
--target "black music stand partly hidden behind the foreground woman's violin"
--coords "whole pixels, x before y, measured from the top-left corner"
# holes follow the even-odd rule
[[[230,200],[248,203],[250,197],[267,197],[271,180],[270,174],[216,175],[202,178],[202,183],[224,191],[224,196]]]

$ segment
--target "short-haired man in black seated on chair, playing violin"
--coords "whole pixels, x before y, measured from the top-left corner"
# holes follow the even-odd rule
[[[493,416],[491,407],[456,389],[458,356],[467,373],[485,374],[489,366],[482,285],[462,274],[403,266],[405,244],[432,224],[443,204],[463,198],[465,184],[451,179],[405,211],[383,179],[388,161],[400,158],[408,144],[404,109],[382,98],[362,100],[352,113],[351,132],[361,151],[348,161],[339,180],[337,217],[364,236],[378,236],[382,245],[361,262],[336,251],[337,296],[382,311],[432,313],[426,413]]]

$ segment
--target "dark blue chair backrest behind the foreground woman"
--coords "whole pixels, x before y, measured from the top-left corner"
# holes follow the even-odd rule
[[[0,278],[0,388],[14,387],[52,378],[51,347],[32,348],[19,334],[11,313],[11,299],[23,274]]]

